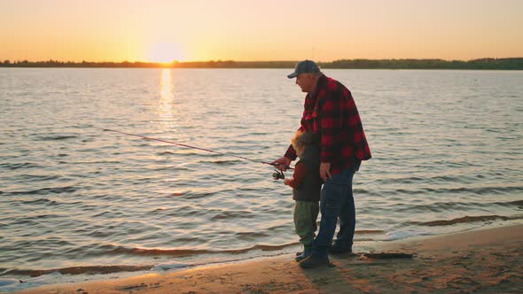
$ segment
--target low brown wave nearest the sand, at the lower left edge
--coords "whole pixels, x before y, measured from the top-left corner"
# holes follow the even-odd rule
[[[2,275],[25,275],[40,276],[51,273],[60,273],[61,275],[107,275],[120,272],[137,272],[149,270],[154,266],[95,266],[95,267],[63,267],[54,269],[6,269]]]

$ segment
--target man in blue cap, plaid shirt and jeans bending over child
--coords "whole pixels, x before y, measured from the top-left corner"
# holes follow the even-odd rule
[[[301,260],[301,267],[329,265],[328,252],[352,252],[355,233],[355,204],[352,180],[362,160],[371,159],[363,125],[350,91],[339,81],[326,77],[312,60],[296,65],[289,79],[296,78],[301,91],[307,93],[301,117],[303,132],[320,135],[321,164],[319,174],[324,180],[319,232],[313,242],[312,254]],[[285,156],[273,161],[285,169],[296,159],[290,145]],[[340,218],[336,241],[332,238]]]

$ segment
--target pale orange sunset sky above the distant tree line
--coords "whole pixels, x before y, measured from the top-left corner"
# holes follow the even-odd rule
[[[519,0],[2,0],[0,60],[523,57]]]

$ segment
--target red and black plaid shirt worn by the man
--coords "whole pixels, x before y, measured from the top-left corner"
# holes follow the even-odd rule
[[[339,81],[322,75],[303,106],[299,130],[321,136],[321,160],[331,163],[332,174],[354,166],[358,160],[371,159],[355,101]],[[296,159],[292,144],[285,157]]]

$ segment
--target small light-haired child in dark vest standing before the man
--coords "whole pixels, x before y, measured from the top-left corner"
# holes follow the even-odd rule
[[[296,201],[294,228],[303,245],[303,252],[298,253],[296,261],[301,261],[312,252],[323,181],[319,174],[320,146],[317,135],[299,132],[291,143],[300,161],[294,166],[293,178],[285,179],[285,185],[293,187],[293,200]]]

